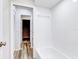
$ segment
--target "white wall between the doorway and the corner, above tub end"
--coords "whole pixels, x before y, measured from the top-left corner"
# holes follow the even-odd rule
[[[51,31],[51,12],[50,9],[36,7],[34,25],[34,47],[46,48],[51,47],[52,31]]]

